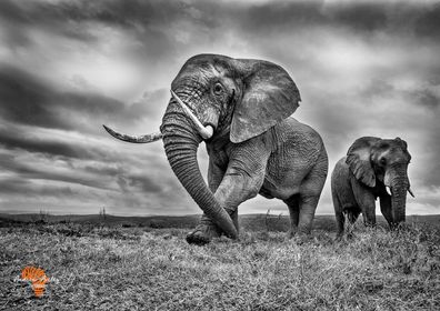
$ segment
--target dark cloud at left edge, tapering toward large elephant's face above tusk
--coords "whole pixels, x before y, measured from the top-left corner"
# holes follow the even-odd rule
[[[101,130],[96,120],[119,116],[136,122],[146,116],[158,117],[152,107],[162,101],[164,92],[146,92],[143,99],[147,102],[141,100],[124,104],[93,92],[59,92],[51,84],[26,71],[0,67],[0,118],[28,126],[66,130],[81,128],[96,132]],[[89,122],[79,123],[83,118]],[[31,141],[29,143],[32,146]]]

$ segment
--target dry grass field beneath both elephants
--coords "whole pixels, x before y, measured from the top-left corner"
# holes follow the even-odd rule
[[[281,218],[247,221],[239,241],[196,247],[182,228],[3,220],[0,310],[440,310],[438,218],[398,232],[359,224],[340,242],[331,217],[292,240],[269,228]],[[27,265],[49,278],[41,298],[20,280]]]

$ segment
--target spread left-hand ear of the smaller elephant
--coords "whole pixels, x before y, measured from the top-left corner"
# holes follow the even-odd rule
[[[376,185],[374,170],[371,165],[371,148],[380,140],[376,137],[357,139],[347,152],[346,163],[356,179],[369,187]]]

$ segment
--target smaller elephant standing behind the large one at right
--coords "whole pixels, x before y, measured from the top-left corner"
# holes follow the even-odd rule
[[[400,138],[362,137],[353,142],[331,174],[331,194],[338,227],[343,234],[346,215],[353,224],[362,213],[366,225],[376,225],[376,199],[390,228],[404,222],[411,156]]]

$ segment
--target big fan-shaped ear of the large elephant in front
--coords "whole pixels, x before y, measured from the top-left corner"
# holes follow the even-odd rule
[[[297,86],[280,66],[257,60],[242,60],[241,64],[243,94],[236,104],[230,134],[234,143],[259,136],[288,118],[301,101]]]

